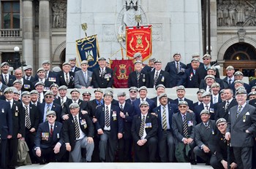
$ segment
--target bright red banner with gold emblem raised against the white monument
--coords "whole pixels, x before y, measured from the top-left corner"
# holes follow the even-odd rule
[[[127,57],[133,58],[136,52],[140,52],[143,60],[152,55],[152,29],[151,25],[127,27]]]

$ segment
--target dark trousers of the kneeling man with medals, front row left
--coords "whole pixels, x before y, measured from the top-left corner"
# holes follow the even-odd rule
[[[59,153],[55,154],[53,150],[54,146],[50,146],[48,148],[41,148],[41,156],[38,157],[36,154],[36,150],[33,149],[34,157],[37,157],[39,162],[42,160],[46,160],[47,162],[61,162],[62,157],[66,152],[66,145],[62,144],[59,150]]]

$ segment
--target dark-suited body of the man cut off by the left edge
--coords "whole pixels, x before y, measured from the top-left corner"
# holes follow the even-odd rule
[[[7,139],[12,138],[12,111],[10,103],[0,100],[0,167],[7,168]]]

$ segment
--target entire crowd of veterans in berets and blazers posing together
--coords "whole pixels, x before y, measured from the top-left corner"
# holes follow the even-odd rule
[[[180,60],[175,53],[163,71],[161,60],[151,58],[146,65],[135,53],[129,93],[116,93],[117,100],[105,58],[92,72],[86,60],[78,68],[69,58],[59,72],[50,71],[45,60],[35,76],[31,66],[11,75],[9,63],[1,63],[1,168],[18,165],[18,140],[26,141],[31,162],[40,164],[205,162],[213,168],[252,168],[256,80],[244,83],[233,66],[220,79],[208,54],[203,63],[198,54],[187,65]],[[167,97],[170,87],[175,98]],[[154,98],[147,97],[148,88],[157,91]],[[198,88],[197,102],[185,98],[186,88]]]

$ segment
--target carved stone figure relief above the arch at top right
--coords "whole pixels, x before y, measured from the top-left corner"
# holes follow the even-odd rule
[[[256,0],[219,0],[218,26],[255,26]]]

